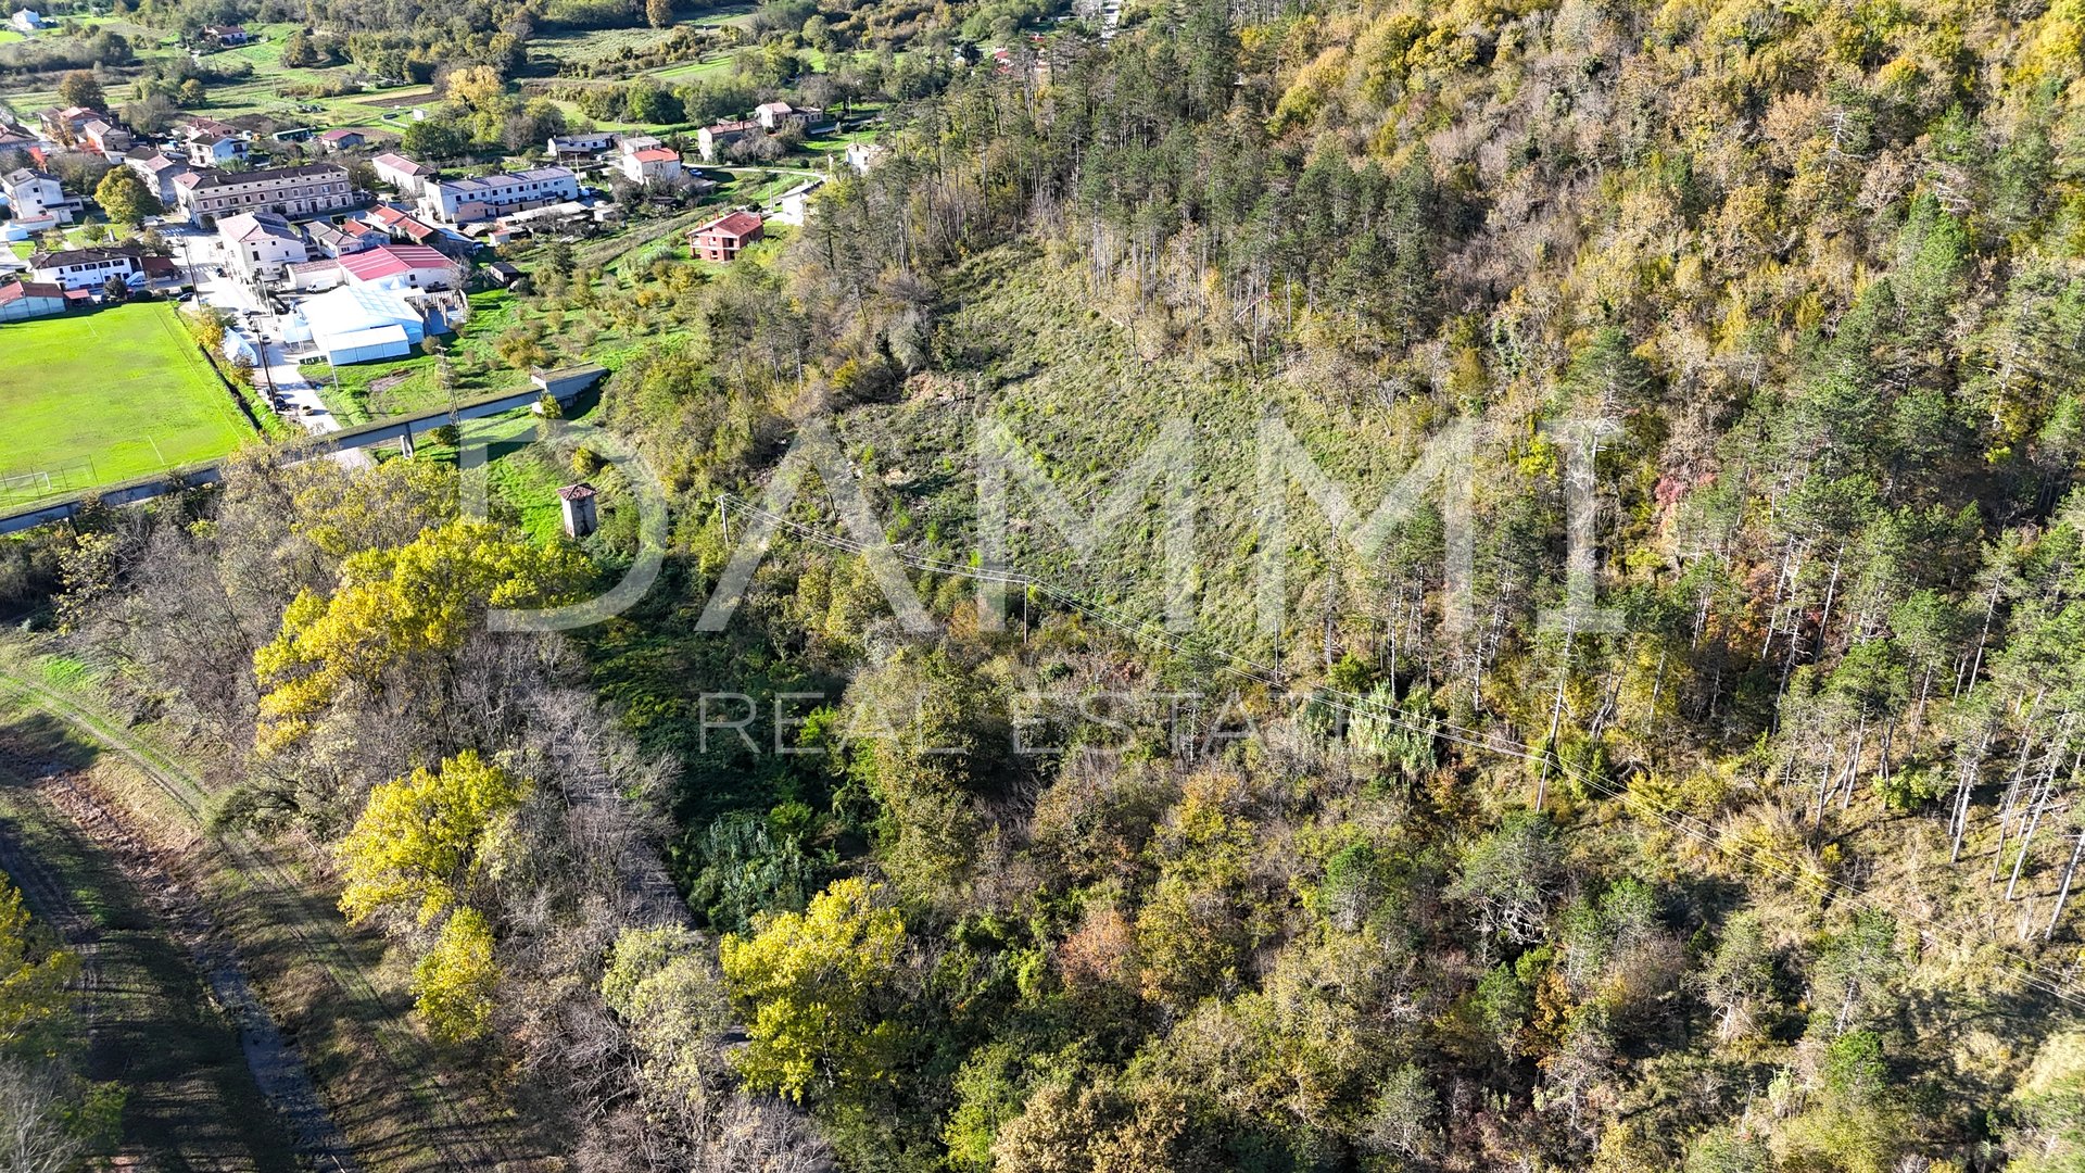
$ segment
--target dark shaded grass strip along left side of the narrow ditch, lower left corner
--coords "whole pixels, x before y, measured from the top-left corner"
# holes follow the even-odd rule
[[[63,760],[106,770],[50,716],[0,697],[6,762]],[[261,1096],[238,1027],[211,1002],[190,952],[171,939],[115,860],[27,779],[0,764],[6,839],[65,885],[94,933],[92,1079],[125,1090],[121,1152],[156,1169],[275,1171],[296,1156]]]

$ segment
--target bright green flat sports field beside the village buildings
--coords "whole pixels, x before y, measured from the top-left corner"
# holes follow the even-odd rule
[[[219,457],[252,434],[167,303],[0,324],[0,505]]]

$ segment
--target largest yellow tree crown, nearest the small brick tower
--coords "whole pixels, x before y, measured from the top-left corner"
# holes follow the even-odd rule
[[[350,691],[438,676],[486,607],[548,607],[584,595],[586,555],[532,545],[490,522],[455,520],[396,549],[371,549],[340,564],[332,595],[298,593],[281,632],[254,653],[263,751],[302,737]]]

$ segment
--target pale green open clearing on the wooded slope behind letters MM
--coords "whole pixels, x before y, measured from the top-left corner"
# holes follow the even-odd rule
[[[1159,311],[1136,313],[1134,294],[1090,290],[1076,269],[1045,263],[1030,250],[999,248],[970,261],[945,286],[957,305],[942,330],[963,355],[963,380],[922,380],[901,403],[872,403],[842,417],[842,432],[890,486],[894,541],[919,541],[938,557],[961,561],[976,518],[967,476],[947,476],[949,453],[974,451],[980,420],[1001,424],[1045,468],[1086,518],[1124,484],[1124,468],[1145,455],[1163,428],[1193,434],[1191,495],[1197,516],[1197,624],[1230,643],[1255,632],[1259,501],[1253,453],[1261,415],[1278,411],[1314,463],[1357,509],[1372,511],[1416,459],[1422,405],[1384,409],[1372,392],[1336,388],[1299,367],[1280,378],[1247,380],[1236,353],[1174,330]],[[1128,438],[1128,440],[1126,440]],[[955,457],[963,459],[963,457]],[[1015,509],[1030,509],[1017,501]],[[1030,518],[1034,513],[1028,513]],[[1157,490],[1080,559],[1047,524],[1017,528],[1011,561],[1122,605],[1140,618],[1163,614],[1170,582]],[[1341,551],[1324,513],[1291,490],[1289,543],[1297,566],[1320,551]],[[1305,572],[1293,572],[1297,580]]]

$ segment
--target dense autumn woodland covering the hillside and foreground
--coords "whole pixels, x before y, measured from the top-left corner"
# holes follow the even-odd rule
[[[771,263],[534,259],[550,353],[671,338],[592,417],[676,501],[636,609],[484,630],[634,522],[530,547],[430,463],[6,551],[252,747],[219,816],[327,845],[459,1067],[580,1169],[2085,1163],[2085,8],[1186,2],[867,86],[894,152]],[[1364,513],[1478,428],[1468,595],[1439,497],[1270,530],[1268,417]],[[980,620],[978,424],[1090,511],[1168,420],[1193,630],[1155,488],[1097,549],[1017,501],[1051,589]],[[934,635],[817,478],[696,630],[819,434]],[[1539,622],[1585,457],[1612,630]]]

